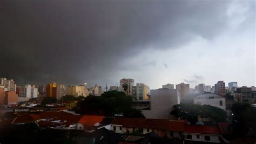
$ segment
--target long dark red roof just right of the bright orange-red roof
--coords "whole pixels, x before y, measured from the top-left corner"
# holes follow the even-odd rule
[[[144,118],[115,118],[112,125],[123,125],[124,127],[168,129],[169,120],[144,119]]]

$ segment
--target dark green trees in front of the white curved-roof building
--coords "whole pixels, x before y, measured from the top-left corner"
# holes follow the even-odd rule
[[[224,122],[227,118],[227,113],[218,107],[210,105],[195,105],[195,104],[179,104],[173,106],[171,115],[177,118],[186,119],[192,124],[198,121],[198,117],[210,118],[212,122]]]

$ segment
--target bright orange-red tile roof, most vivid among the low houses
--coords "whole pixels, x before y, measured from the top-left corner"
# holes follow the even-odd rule
[[[102,122],[103,118],[104,116],[83,115],[83,117],[78,122],[83,125],[94,126],[97,122]]]

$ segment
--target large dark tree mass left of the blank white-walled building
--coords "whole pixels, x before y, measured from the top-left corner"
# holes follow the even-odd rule
[[[109,91],[102,97],[89,95],[79,101],[77,112],[105,116],[124,115],[132,118],[145,118],[141,111],[132,108],[132,97],[124,92]]]

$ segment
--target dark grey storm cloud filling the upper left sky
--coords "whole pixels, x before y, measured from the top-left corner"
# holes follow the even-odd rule
[[[1,1],[0,77],[19,83],[104,83],[149,47],[174,49],[196,36],[218,36],[227,26],[227,4]]]

